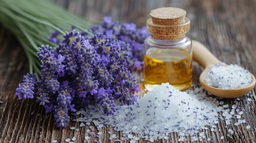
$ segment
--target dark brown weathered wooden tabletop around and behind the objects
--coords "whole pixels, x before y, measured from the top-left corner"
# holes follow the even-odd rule
[[[214,55],[226,63],[238,64],[256,75],[256,1],[255,0],[55,0],[69,11],[83,15],[87,18],[101,20],[105,15],[112,16],[113,20],[135,23],[138,27],[144,26],[149,17],[149,11],[159,7],[180,7],[187,11],[191,20],[191,30],[187,34],[190,38],[202,42]],[[85,132],[89,126],[79,128],[78,122],[69,122],[66,129],[57,129],[54,125],[53,114],[45,114],[45,110],[33,100],[18,100],[15,89],[21,82],[23,74],[28,71],[25,54],[14,36],[0,26],[0,142],[64,142],[67,138],[76,137],[75,142],[86,142]],[[193,64],[193,85],[199,86],[199,74],[202,71],[197,63]],[[256,111],[255,88],[252,91],[252,102],[248,104],[247,97],[240,101],[223,100],[230,105],[236,104],[245,112],[245,119],[251,129],[245,126],[232,126],[228,128],[235,131],[227,135],[224,128],[226,123],[220,121],[217,129],[220,132],[208,130],[206,139],[209,142],[255,142],[256,141]],[[235,123],[235,122],[233,122]],[[92,124],[91,124],[92,125]],[[76,126],[79,131],[70,130]],[[110,128],[102,130],[103,134],[96,138],[92,136],[91,142],[110,142]],[[118,139],[121,133],[118,132]],[[224,139],[220,139],[224,136]],[[169,140],[158,142],[178,142],[177,133],[169,135]],[[203,139],[203,142],[208,142]],[[112,140],[112,142],[114,142]],[[128,142],[128,141],[125,141]],[[143,139],[139,142],[145,142]],[[190,138],[186,138],[190,142]]]

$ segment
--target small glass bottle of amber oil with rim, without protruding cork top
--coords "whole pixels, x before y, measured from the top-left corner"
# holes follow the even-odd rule
[[[186,36],[190,20],[178,25],[153,24],[147,20],[151,35],[144,42],[144,85],[147,90],[169,82],[185,91],[192,84],[192,41]]]

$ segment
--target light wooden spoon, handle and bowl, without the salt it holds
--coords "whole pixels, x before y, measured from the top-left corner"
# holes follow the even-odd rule
[[[211,94],[222,97],[222,98],[235,98],[240,97],[242,95],[247,94],[249,91],[251,91],[255,86],[255,77],[253,74],[252,76],[252,82],[243,87],[243,88],[237,88],[237,89],[220,89],[220,88],[214,88],[212,86],[209,86],[205,83],[203,80],[203,76],[209,71],[209,67],[212,64],[220,63],[221,61],[218,60],[205,46],[202,45],[202,43],[198,41],[192,41],[192,49],[193,49],[193,60],[197,61],[202,67],[205,68],[205,70],[202,71],[199,82],[205,88],[206,91],[210,92]]]

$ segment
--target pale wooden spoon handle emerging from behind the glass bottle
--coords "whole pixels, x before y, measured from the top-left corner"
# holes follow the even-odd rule
[[[202,43],[198,41],[192,40],[192,49],[193,60],[197,61],[204,68],[221,62]]]

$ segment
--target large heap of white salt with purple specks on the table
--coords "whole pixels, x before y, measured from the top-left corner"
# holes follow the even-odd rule
[[[243,111],[240,107],[232,105],[232,109],[229,109],[229,105],[223,103],[206,96],[202,88],[181,92],[169,83],[163,83],[140,98],[135,105],[119,105],[115,116],[104,116],[103,110],[95,106],[88,107],[86,111],[77,111],[76,114],[82,114],[77,121],[93,122],[98,130],[112,126],[115,130],[122,131],[131,142],[140,138],[151,142],[156,139],[168,139],[168,134],[172,132],[181,136],[179,141],[184,141],[187,135],[191,136],[192,141],[202,141],[207,132],[203,129],[211,128],[211,131],[217,132],[215,124],[218,119],[226,121],[227,125],[230,125],[233,119],[238,120],[235,123],[237,126],[246,123],[241,119]],[[84,126],[84,123],[81,125]],[[90,129],[92,130],[92,126]],[[232,131],[230,129],[229,133],[232,134]],[[94,134],[93,130],[91,133]],[[133,136],[131,133],[137,135]],[[88,139],[88,136],[86,138]],[[112,133],[110,139],[113,138],[117,136]],[[122,137],[121,140],[126,138]]]

